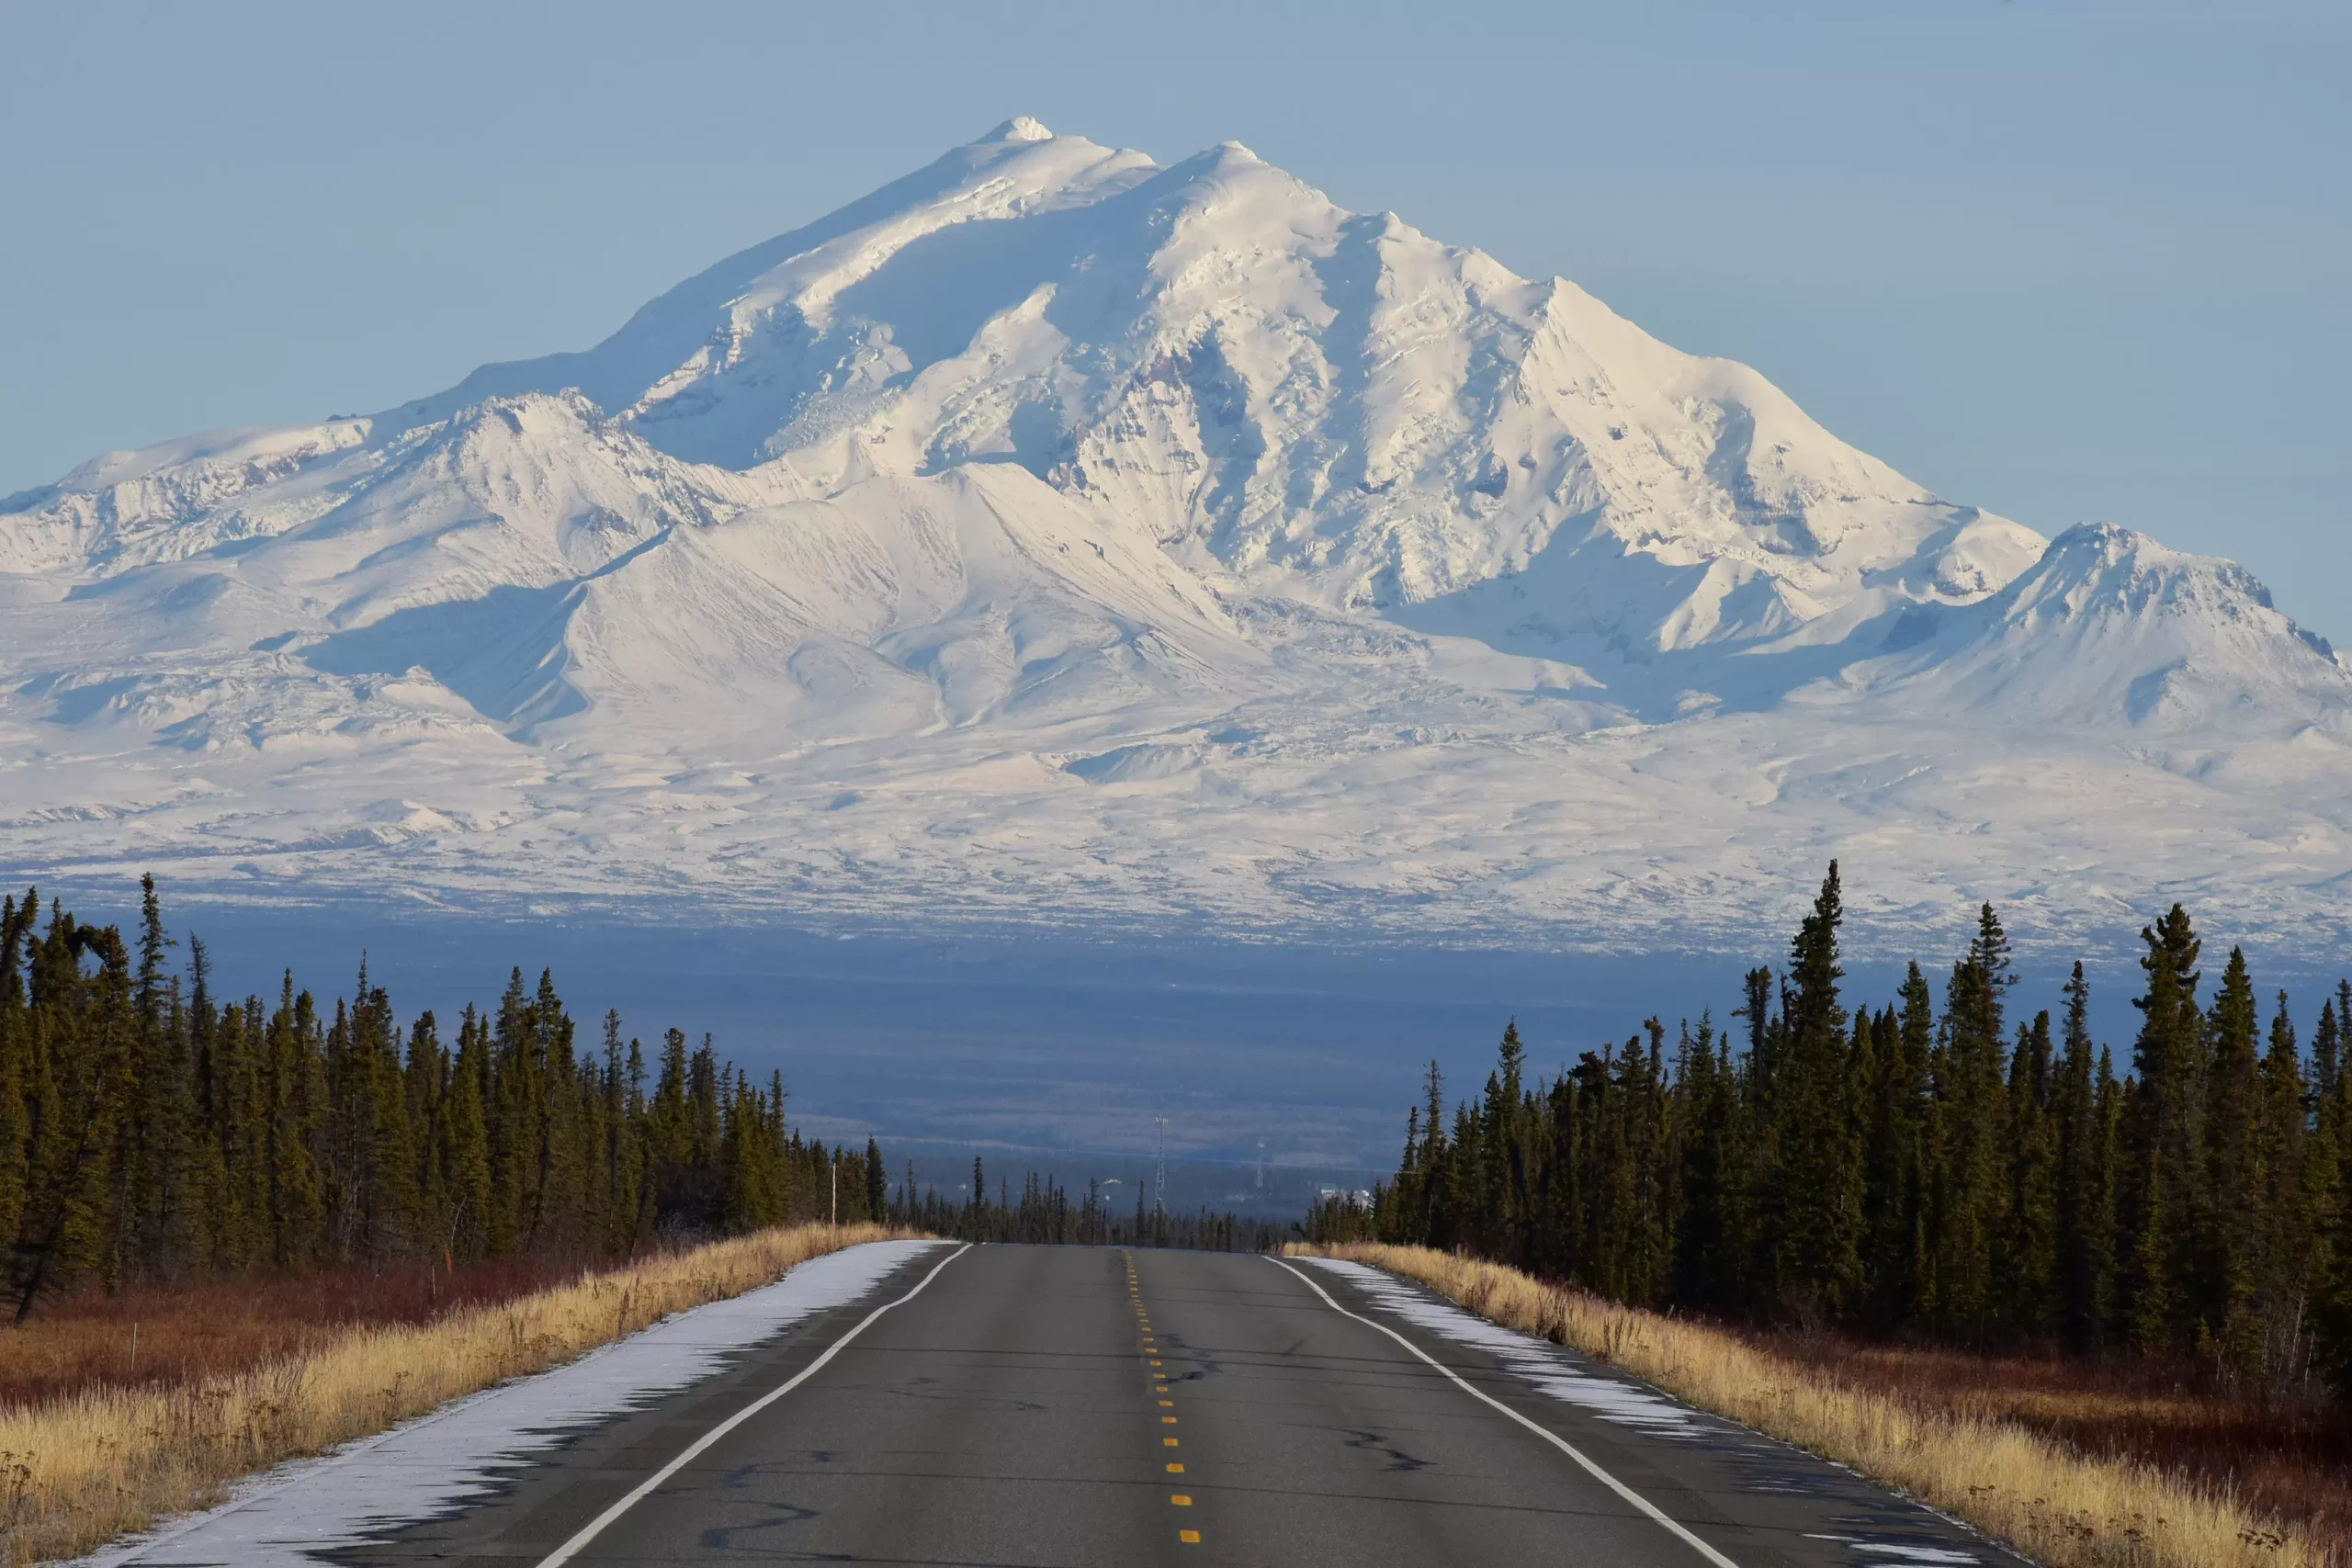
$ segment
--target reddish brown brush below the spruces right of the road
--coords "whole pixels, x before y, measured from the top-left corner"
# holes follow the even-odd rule
[[[1748,1338],[1853,1387],[2157,1465],[2300,1526],[2331,1563],[2352,1566],[2352,1418],[2317,1387],[2253,1396],[2190,1366]]]

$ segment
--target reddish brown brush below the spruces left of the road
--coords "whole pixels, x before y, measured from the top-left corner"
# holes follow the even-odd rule
[[[0,1408],[103,1387],[183,1385],[313,1352],[346,1328],[428,1324],[576,1279],[581,1267],[508,1258],[452,1274],[421,1262],[285,1279],[85,1288],[24,1326],[0,1316]]]

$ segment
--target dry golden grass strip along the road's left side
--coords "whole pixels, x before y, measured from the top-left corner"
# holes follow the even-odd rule
[[[437,1403],[741,1295],[858,1241],[913,1232],[800,1225],[579,1279],[430,1324],[362,1326],[249,1371],[169,1387],[94,1387],[0,1408],[0,1563],[89,1552],[228,1481],[383,1432]]]

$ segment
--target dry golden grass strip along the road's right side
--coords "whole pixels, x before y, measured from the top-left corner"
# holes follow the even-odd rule
[[[2218,1488],[2152,1465],[2084,1458],[2020,1425],[1922,1408],[1773,1356],[1703,1324],[1545,1286],[1421,1246],[1284,1248],[1369,1262],[1470,1312],[1623,1366],[1966,1519],[2051,1568],[2321,1568],[2324,1552]]]

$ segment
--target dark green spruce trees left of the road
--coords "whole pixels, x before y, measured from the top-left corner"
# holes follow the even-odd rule
[[[654,1241],[797,1220],[880,1220],[882,1154],[786,1126],[781,1074],[755,1084],[706,1034],[656,1060],[581,1044],[555,980],[513,971],[456,1039],[405,1030],[367,978],[332,1009],[296,992],[214,994],[186,971],[155,879],[141,922],[89,926],[0,898],[0,1241],[24,1321],[75,1279],[536,1255],[595,1260]]]

